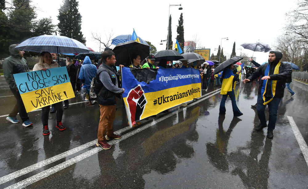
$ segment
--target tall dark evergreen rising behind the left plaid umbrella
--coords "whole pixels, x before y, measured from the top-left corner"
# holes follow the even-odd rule
[[[83,44],[86,43],[86,39],[81,32],[81,15],[76,0],[63,0],[63,5],[59,9],[57,17],[60,35],[76,39]]]

